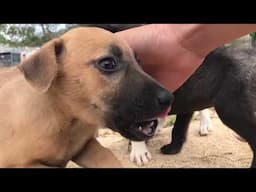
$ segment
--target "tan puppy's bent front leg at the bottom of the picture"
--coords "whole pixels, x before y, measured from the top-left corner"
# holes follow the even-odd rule
[[[87,168],[120,168],[121,163],[114,154],[103,147],[95,138],[91,139],[85,148],[72,159],[79,166]]]

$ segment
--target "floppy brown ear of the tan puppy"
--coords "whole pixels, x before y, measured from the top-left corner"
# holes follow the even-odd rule
[[[58,62],[63,49],[63,41],[54,39],[30,58],[25,59],[18,68],[35,89],[44,93],[51,87],[57,76]]]

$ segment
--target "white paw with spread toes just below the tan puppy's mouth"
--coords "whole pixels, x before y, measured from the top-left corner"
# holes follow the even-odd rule
[[[131,141],[130,161],[138,166],[147,164],[152,159],[144,141]]]

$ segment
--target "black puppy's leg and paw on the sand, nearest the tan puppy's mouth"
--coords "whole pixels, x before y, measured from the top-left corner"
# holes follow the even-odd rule
[[[177,115],[172,130],[172,141],[170,144],[161,147],[161,152],[163,154],[176,154],[180,152],[183,143],[186,141],[187,130],[192,116],[193,112]]]

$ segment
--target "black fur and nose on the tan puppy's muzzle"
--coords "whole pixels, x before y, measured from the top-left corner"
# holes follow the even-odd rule
[[[139,131],[136,123],[156,119],[172,104],[174,96],[139,68],[135,70],[128,65],[125,73],[111,101],[112,112],[106,120],[108,127],[134,141],[149,139]]]

